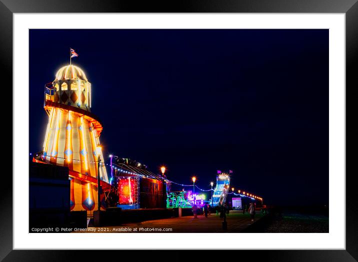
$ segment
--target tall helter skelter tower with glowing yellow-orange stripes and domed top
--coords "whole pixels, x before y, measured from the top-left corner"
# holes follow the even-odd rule
[[[102,126],[90,107],[91,84],[78,66],[61,67],[55,79],[45,85],[48,124],[37,160],[68,167],[71,210],[97,209],[98,157],[103,163],[99,143]],[[99,176],[102,188],[108,187],[104,164],[99,165]]]

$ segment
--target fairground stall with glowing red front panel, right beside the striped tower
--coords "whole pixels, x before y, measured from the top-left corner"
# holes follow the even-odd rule
[[[122,209],[165,207],[166,182],[163,175],[149,171],[146,165],[135,160],[113,155],[110,155],[109,165],[116,206]]]

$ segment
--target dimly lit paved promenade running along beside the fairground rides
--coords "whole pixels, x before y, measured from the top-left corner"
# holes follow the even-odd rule
[[[257,221],[260,217],[260,214],[256,214],[255,221]],[[205,217],[204,215],[198,215],[197,218],[193,218],[193,216],[182,216],[166,219],[149,220],[137,223],[126,223],[118,226],[88,227],[89,231],[87,232],[93,232],[95,230],[94,232],[99,233],[237,233],[252,223],[249,214],[242,214],[237,211],[230,211],[230,214],[226,216],[227,230],[222,229],[222,221],[223,218],[220,218],[218,215],[213,213],[208,215],[207,217]]]

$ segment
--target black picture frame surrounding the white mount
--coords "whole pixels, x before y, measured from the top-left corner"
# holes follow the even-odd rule
[[[353,99],[358,87],[358,3],[357,0],[0,0],[0,61],[1,79],[12,86],[12,15],[21,12],[287,12],[287,13],[345,13],[346,36],[346,111],[356,107]],[[4,84],[4,82],[3,82]],[[7,88],[11,90],[11,88]],[[10,97],[12,94],[9,93]],[[352,113],[348,112],[346,115]],[[11,127],[12,128],[12,127]],[[346,130],[353,132],[352,124]],[[12,130],[13,131],[13,130]],[[351,135],[352,136],[352,135]],[[350,137],[350,136],[349,136]],[[16,137],[13,137],[16,139]],[[346,148],[356,147],[351,141]],[[8,153],[8,157],[11,155]],[[353,163],[354,155],[347,155],[346,162]],[[11,158],[12,161],[12,158]],[[353,172],[346,172],[346,249],[345,250],[257,250],[255,259],[268,261],[354,261],[358,259],[358,208]],[[5,261],[59,261],[72,260],[86,252],[91,260],[97,257],[105,259],[102,252],[69,250],[13,250],[12,248],[12,177],[2,175],[6,186],[2,187],[0,197],[0,259]],[[344,197],[344,196],[343,196]],[[39,247],[40,248],[40,247]],[[79,253],[78,253],[79,252]],[[106,251],[113,254],[116,251]],[[120,251],[123,257],[132,251]],[[148,251],[147,251],[148,252]],[[149,251],[151,252],[151,251]],[[243,258],[252,256],[251,251],[238,251]],[[136,251],[138,257],[148,255]],[[175,250],[169,256],[162,252],[165,260],[182,260],[185,251]],[[140,259],[139,259],[140,260]]]

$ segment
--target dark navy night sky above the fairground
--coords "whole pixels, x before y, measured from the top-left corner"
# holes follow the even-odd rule
[[[92,84],[103,154],[204,189],[216,170],[267,204],[328,204],[327,29],[31,29],[29,151],[44,84],[69,63]],[[181,189],[181,187],[173,187]],[[187,188],[190,189],[190,188]]]

